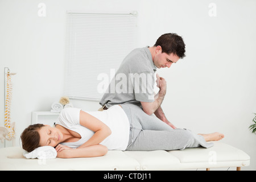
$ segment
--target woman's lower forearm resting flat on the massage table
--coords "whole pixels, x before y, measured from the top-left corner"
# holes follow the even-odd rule
[[[108,148],[106,146],[96,144],[84,148],[62,150],[57,152],[57,158],[92,158],[105,155],[107,152]]]

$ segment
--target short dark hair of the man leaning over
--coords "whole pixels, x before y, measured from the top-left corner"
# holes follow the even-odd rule
[[[161,35],[158,40],[156,40],[154,46],[161,46],[162,53],[165,52],[168,55],[174,53],[174,55],[179,56],[180,59],[185,57],[185,44],[181,36],[177,34],[169,33]]]

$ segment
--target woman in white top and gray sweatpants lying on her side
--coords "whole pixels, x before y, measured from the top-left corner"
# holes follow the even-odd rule
[[[40,146],[56,147],[59,158],[105,155],[108,150],[183,150],[187,147],[212,147],[208,141],[220,140],[223,134],[193,134],[147,115],[132,104],[115,105],[104,111],[63,109],[55,127],[35,124],[20,136],[24,150]]]

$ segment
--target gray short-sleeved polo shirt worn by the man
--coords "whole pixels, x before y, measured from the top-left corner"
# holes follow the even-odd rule
[[[125,57],[115,73],[100,105],[154,102],[156,67],[148,47],[134,49]]]

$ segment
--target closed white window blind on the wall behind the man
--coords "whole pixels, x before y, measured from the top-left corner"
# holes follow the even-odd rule
[[[98,90],[98,76],[105,73],[110,83],[110,75],[135,48],[136,38],[136,14],[68,12],[65,96],[100,101],[104,93]]]

